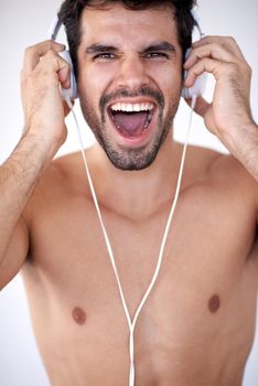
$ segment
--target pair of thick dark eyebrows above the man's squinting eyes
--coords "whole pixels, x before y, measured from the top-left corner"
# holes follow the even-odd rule
[[[96,54],[101,52],[118,52],[118,47],[107,44],[93,44],[86,50],[86,54]],[[176,53],[175,46],[169,42],[152,43],[148,47],[141,51],[141,54],[147,54],[154,51],[165,51]]]

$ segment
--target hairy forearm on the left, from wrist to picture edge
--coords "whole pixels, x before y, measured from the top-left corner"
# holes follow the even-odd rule
[[[26,135],[0,168],[0,262],[25,204],[54,153],[51,143]]]

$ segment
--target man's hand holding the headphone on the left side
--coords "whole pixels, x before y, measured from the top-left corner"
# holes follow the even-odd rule
[[[58,148],[67,130],[60,85],[69,87],[69,66],[58,55],[64,45],[45,41],[26,49],[21,73],[25,132],[41,136]]]

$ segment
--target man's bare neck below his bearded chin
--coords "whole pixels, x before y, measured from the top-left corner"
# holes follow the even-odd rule
[[[101,174],[95,186],[99,203],[108,210],[130,218],[143,218],[162,204],[171,203],[182,154],[182,147],[171,138],[171,132],[155,161],[141,171],[127,172],[115,168],[98,143],[94,152]]]

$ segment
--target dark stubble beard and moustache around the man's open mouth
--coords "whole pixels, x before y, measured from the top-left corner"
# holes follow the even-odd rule
[[[176,95],[178,94],[179,93],[176,93]],[[112,143],[106,127],[107,121],[105,112],[107,103],[115,99],[115,97],[136,97],[147,95],[155,98],[159,109],[157,121],[159,130],[154,129],[157,132],[155,137],[152,139],[149,146],[143,148],[118,148],[118,146]],[[103,96],[99,103],[100,117],[90,105],[89,99],[86,95],[80,97],[80,107],[86,122],[94,132],[96,140],[106,152],[110,162],[117,169],[123,171],[138,171],[150,167],[154,162],[160,148],[164,143],[170,132],[174,116],[178,111],[179,101],[180,97],[174,97],[174,99],[170,103],[168,114],[164,118],[164,98],[161,94],[158,94],[157,92],[150,89],[141,89],[138,93],[133,93],[133,95],[129,94],[127,90],[122,90],[112,95]]]

